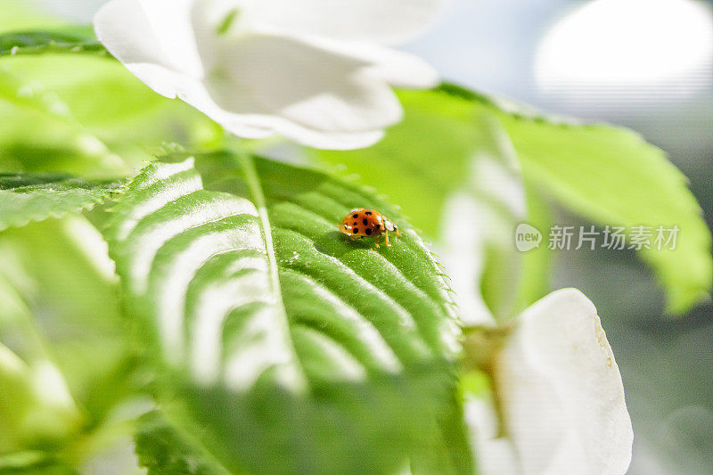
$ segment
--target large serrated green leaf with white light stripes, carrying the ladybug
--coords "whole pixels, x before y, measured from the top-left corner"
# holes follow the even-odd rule
[[[455,315],[400,215],[316,171],[230,152],[174,159],[144,168],[106,231],[127,308],[165,365],[171,421],[200,429],[228,471],[397,471],[422,465],[414,454],[470,470]],[[337,225],[356,207],[403,236],[380,250],[350,241]]]

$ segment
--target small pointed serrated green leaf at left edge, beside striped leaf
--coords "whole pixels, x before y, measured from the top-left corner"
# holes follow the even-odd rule
[[[0,231],[91,209],[118,187],[66,175],[0,173]]]

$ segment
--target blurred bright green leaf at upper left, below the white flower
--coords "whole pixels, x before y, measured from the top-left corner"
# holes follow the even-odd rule
[[[118,61],[55,53],[0,58],[5,171],[128,175],[164,143],[203,147],[222,135],[213,121],[155,94]]]

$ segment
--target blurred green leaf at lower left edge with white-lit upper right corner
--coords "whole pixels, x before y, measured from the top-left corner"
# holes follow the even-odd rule
[[[51,360],[87,424],[100,425],[136,388],[130,323],[101,234],[74,216],[7,229],[0,263],[0,341],[29,363]]]

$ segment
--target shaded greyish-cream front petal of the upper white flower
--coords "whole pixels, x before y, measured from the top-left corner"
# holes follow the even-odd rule
[[[226,111],[329,133],[373,131],[402,117],[395,94],[364,61],[260,33],[225,37],[213,47],[222,61],[206,86]]]

